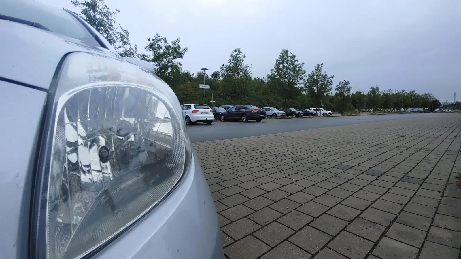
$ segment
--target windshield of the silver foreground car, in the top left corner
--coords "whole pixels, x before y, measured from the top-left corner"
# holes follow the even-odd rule
[[[5,0],[0,1],[0,14],[38,23],[54,33],[89,45],[100,46],[83,24],[64,9],[47,6],[37,1]]]

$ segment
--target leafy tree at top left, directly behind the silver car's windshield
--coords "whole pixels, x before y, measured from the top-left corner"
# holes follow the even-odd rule
[[[136,45],[130,45],[130,33],[115,21],[119,10],[112,11],[104,0],[71,0],[71,3],[80,8],[77,15],[95,28],[120,55],[136,55]]]

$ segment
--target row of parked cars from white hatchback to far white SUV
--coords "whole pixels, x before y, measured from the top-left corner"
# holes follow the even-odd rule
[[[333,113],[323,108],[311,109],[295,109],[295,108],[281,108],[263,107],[259,108],[253,105],[222,105],[222,106],[208,106],[206,104],[184,104],[181,106],[183,111],[183,118],[187,125],[196,122],[212,124],[213,120],[230,121],[241,120],[248,122],[255,120],[260,122],[266,116],[278,117],[316,117],[316,116],[331,116]]]

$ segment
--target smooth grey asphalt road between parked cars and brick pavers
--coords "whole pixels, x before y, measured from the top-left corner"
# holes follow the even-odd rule
[[[361,124],[384,120],[396,120],[421,116],[437,116],[438,113],[408,113],[390,115],[362,115],[346,117],[318,117],[318,118],[294,118],[294,119],[271,119],[261,122],[213,122],[211,125],[197,123],[187,126],[189,138],[192,142],[213,141],[239,137],[250,137],[297,130],[312,130]]]

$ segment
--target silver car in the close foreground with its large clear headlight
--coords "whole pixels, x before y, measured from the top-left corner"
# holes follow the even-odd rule
[[[0,1],[0,35],[1,258],[224,258],[179,102],[151,65],[36,1]]]

